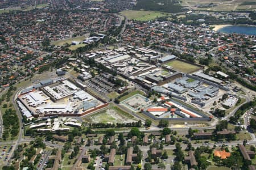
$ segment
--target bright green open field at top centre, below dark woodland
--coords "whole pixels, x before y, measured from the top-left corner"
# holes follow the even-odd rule
[[[135,11],[135,10],[125,10],[120,12],[120,14],[125,15],[127,19],[135,19],[139,21],[154,20],[161,16],[167,16],[167,13],[159,11]]]

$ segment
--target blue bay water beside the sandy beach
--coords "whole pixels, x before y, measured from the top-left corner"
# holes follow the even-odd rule
[[[256,27],[253,27],[253,26],[230,25],[228,27],[218,29],[218,31],[225,32],[225,33],[240,33],[245,35],[256,35]]]

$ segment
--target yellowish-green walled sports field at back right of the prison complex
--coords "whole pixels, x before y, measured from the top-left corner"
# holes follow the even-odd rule
[[[174,70],[178,70],[183,73],[192,73],[198,70],[200,67],[185,63],[179,60],[174,60],[166,63],[166,65],[171,66]]]

